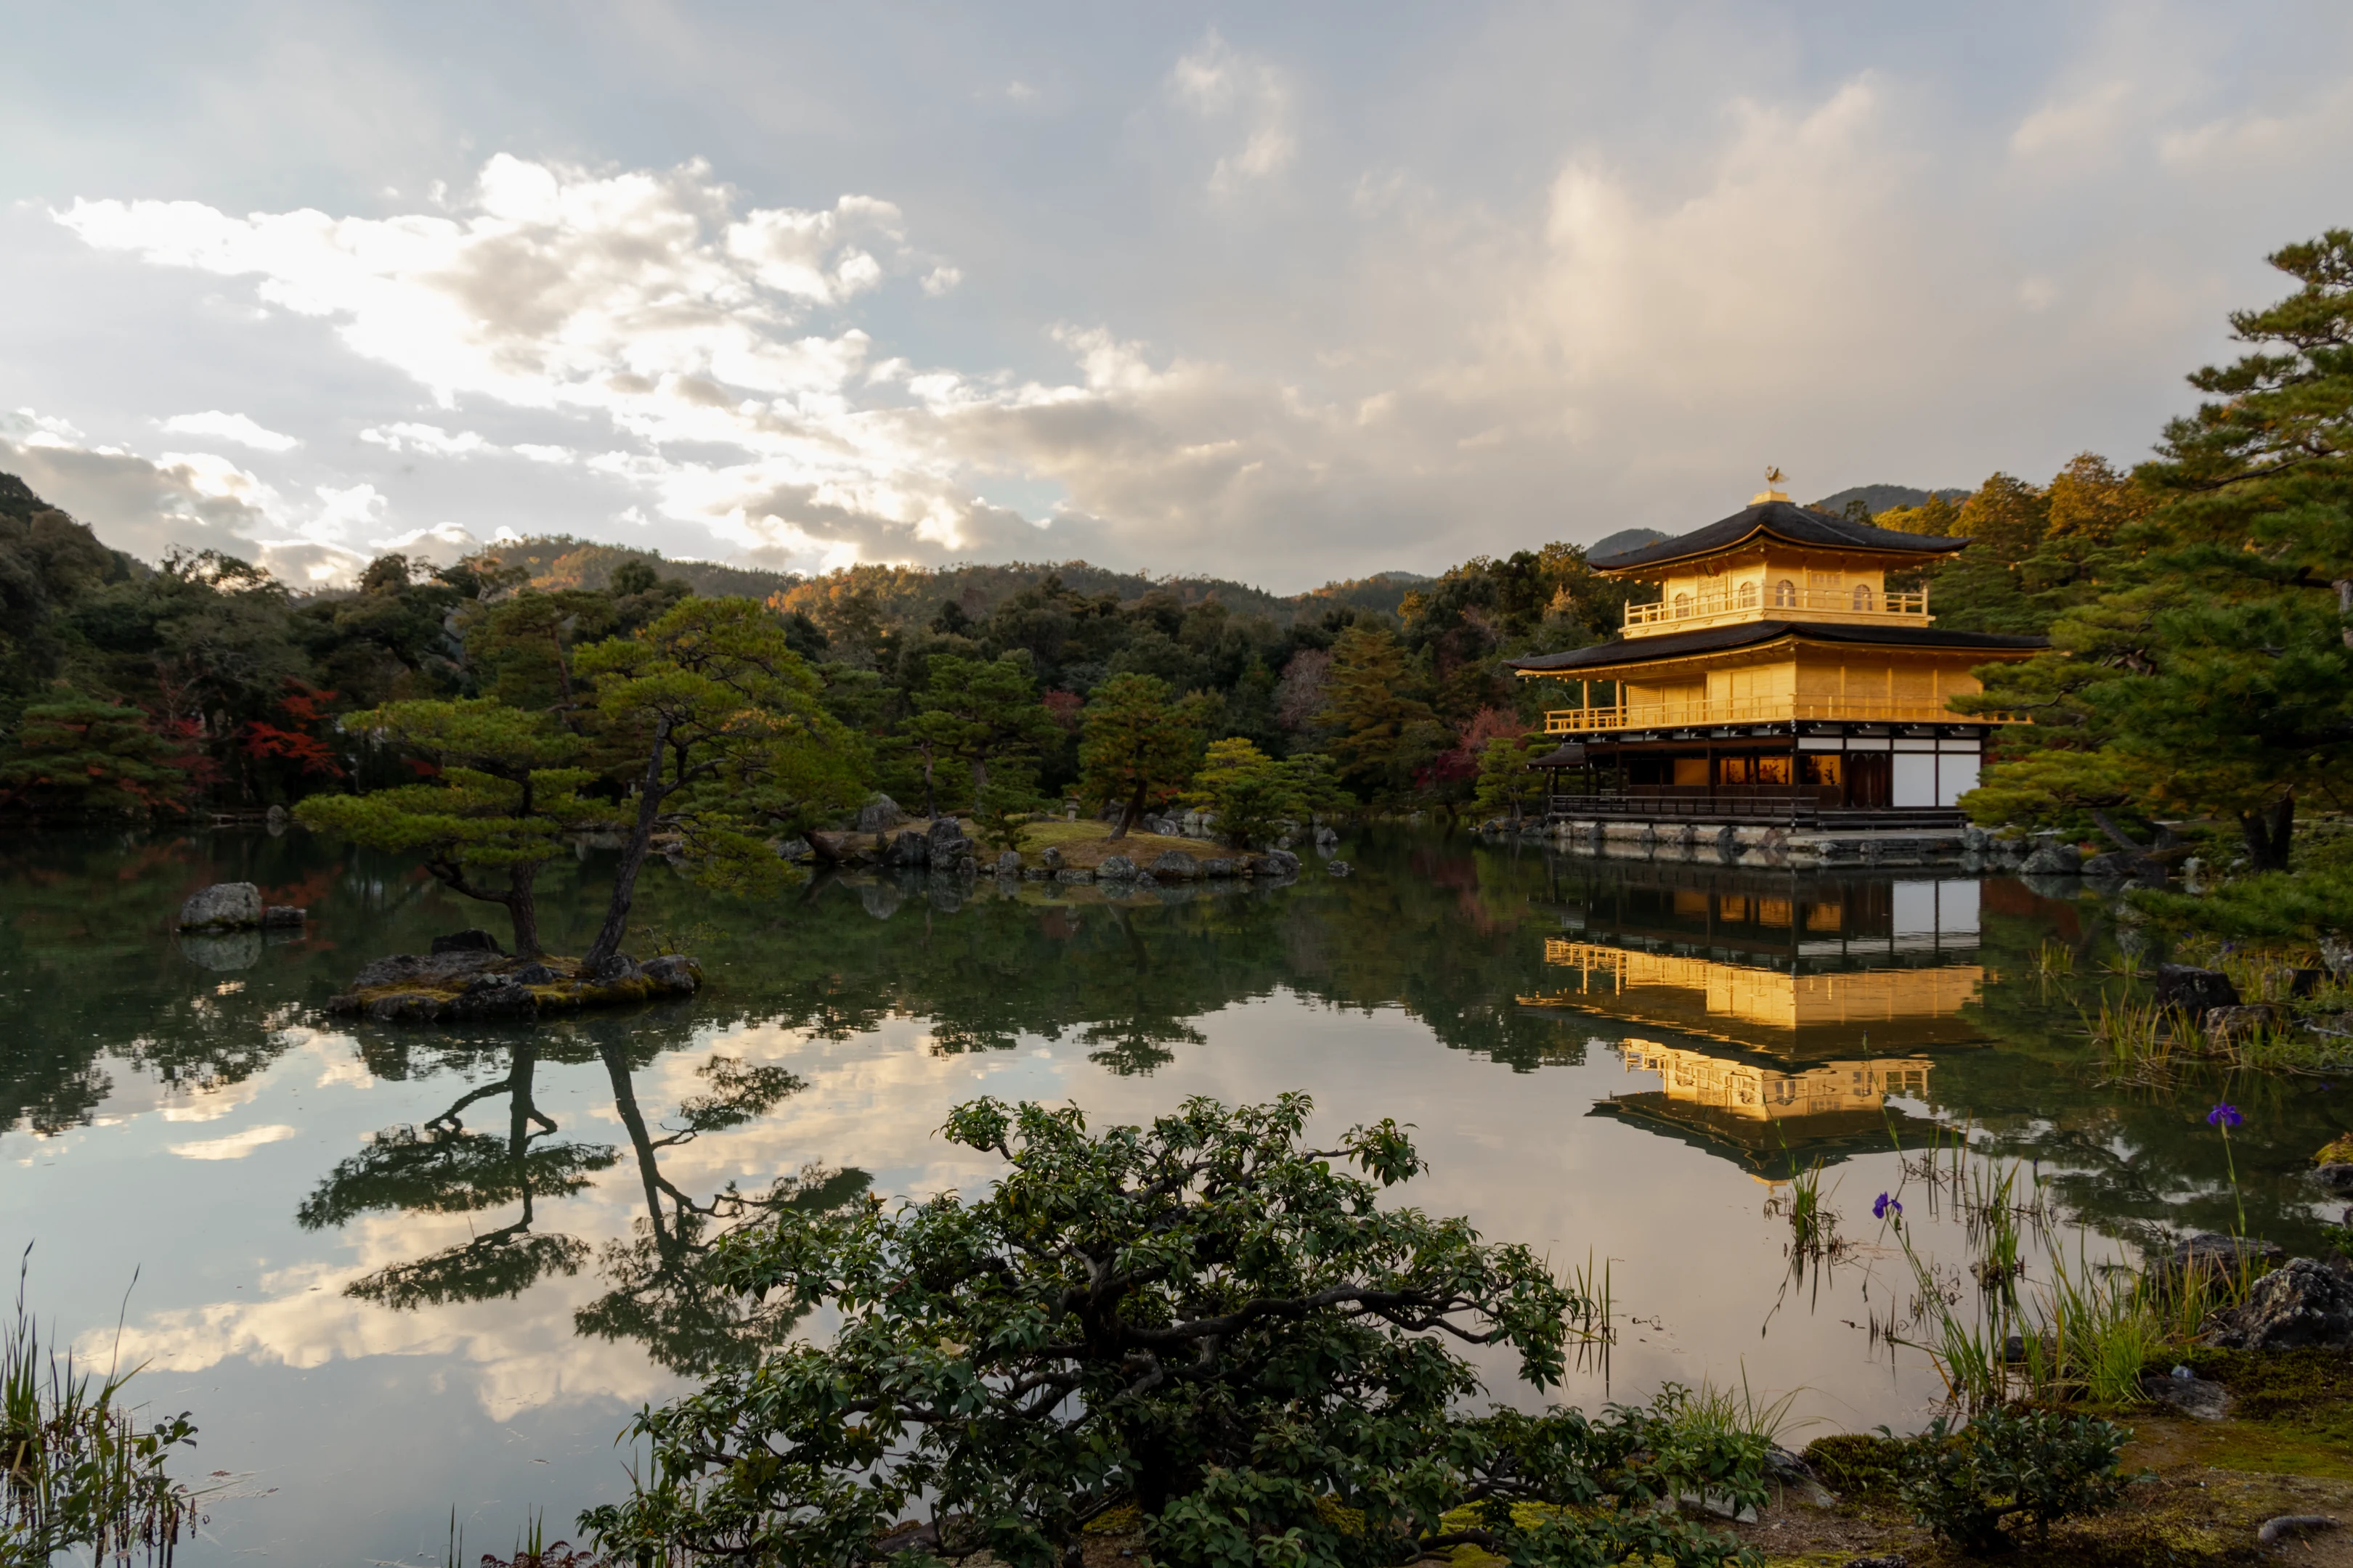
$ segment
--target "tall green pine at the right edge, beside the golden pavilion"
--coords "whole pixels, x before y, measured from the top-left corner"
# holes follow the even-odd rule
[[[2144,820],[2233,818],[2247,863],[2285,870],[2299,799],[2353,806],[2353,230],[2271,263],[2304,287],[2231,315],[2259,353],[2191,376],[2217,400],[2134,470],[2158,508],[2118,522],[2132,567],[2054,623],[2052,658],[1958,703],[2038,719],[2007,738],[2031,764],[1965,802],[1981,820],[2122,790]]]

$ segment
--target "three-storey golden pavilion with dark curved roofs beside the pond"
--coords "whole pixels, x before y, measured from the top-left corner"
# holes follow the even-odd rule
[[[1779,473],[1767,477],[1767,484]],[[1522,679],[1577,682],[1546,715],[1562,741],[1544,764],[1579,769],[1577,816],[1960,825],[1986,736],[2002,715],[1958,715],[1977,665],[2031,658],[2040,637],[1948,632],[1927,592],[1887,576],[1967,548],[1793,505],[1748,508],[1638,550],[1598,557],[1612,578],[1659,583],[1624,635],[1513,661]]]

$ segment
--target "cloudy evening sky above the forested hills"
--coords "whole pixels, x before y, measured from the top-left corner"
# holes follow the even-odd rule
[[[2144,458],[2353,223],[2344,5],[45,5],[0,470],[296,585],[572,534],[1297,592]]]

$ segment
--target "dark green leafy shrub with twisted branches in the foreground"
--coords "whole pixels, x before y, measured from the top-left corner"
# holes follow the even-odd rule
[[[619,1561],[795,1568],[1071,1566],[1113,1509],[1165,1568],[1734,1559],[1654,1505],[1760,1502],[1762,1443],[1673,1401],[1468,1413],[1457,1345],[1553,1387],[1595,1305],[1525,1246],[1384,1208],[1424,1168],[1405,1131],[1306,1147],[1308,1110],[1188,1100],[1089,1135],[1075,1107],[960,1105],[946,1138],[1007,1164],[986,1197],[786,1213],[720,1248],[725,1284],[838,1328],[640,1413],[635,1495],[581,1526]]]

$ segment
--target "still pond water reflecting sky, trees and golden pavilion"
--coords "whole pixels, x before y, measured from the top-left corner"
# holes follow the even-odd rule
[[[0,1246],[31,1244],[45,1319],[195,1413],[216,1490],[181,1561],[440,1563],[452,1514],[504,1552],[619,1495],[631,1410],[793,1331],[696,1288],[718,1229],[986,1182],[934,1135],[981,1093],[1111,1124],[1304,1088],[1320,1135],[1409,1121],[1433,1164],[1409,1201],[1607,1279],[1614,1345],[1565,1399],[1746,1380],[1819,1422],[1795,1441],[1941,1394],[1873,1333],[1918,1295],[1880,1192],[1937,1267],[1967,1260],[1922,1201],[1932,1138],[2021,1161],[2092,1258],[2240,1206],[2313,1251],[2334,1218],[2299,1171],[2353,1084],[2104,1079],[2078,1018],[2120,985],[2097,900],[1414,832],[1341,853],[1348,879],[1127,900],[864,879],[736,905],[656,865],[633,947],[696,952],[701,997],[416,1030],[322,1011],[360,961],[494,924],[409,863],[301,832],[19,839]],[[544,879],[551,947],[586,945],[605,870]],[[224,879],[308,929],[174,938]],[[2038,966],[2059,952],[2073,978]],[[2247,1117],[2228,1150],[2217,1098]],[[1781,1206],[1817,1161],[1852,1246],[1793,1269]]]

